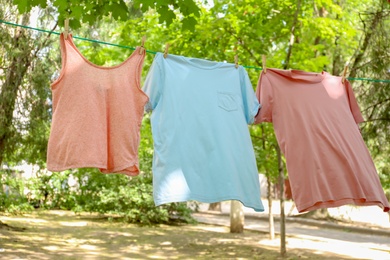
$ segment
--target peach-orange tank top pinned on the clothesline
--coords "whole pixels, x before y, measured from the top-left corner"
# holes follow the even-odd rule
[[[47,169],[93,167],[102,173],[139,174],[138,146],[144,105],[140,89],[145,50],[117,66],[98,66],[61,34],[62,69],[52,83],[53,118]]]

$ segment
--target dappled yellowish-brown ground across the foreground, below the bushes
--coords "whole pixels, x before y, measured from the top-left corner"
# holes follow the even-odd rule
[[[0,259],[282,259],[267,235],[214,225],[139,227],[67,211],[0,216]],[[24,230],[21,231],[21,228]],[[350,259],[291,249],[285,259]]]

